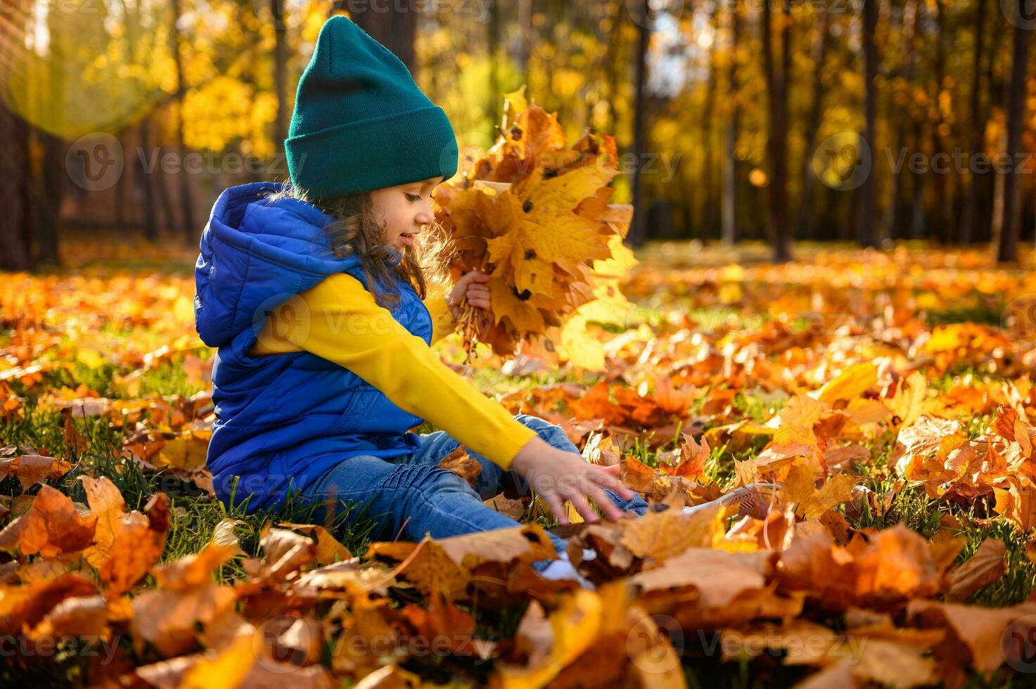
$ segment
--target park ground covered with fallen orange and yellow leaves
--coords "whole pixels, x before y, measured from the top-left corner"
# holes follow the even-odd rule
[[[655,246],[605,370],[462,365],[652,504],[419,544],[228,512],[192,252],[0,283],[0,679],[105,686],[1005,686],[1036,677],[1036,278],[985,255]],[[421,430],[430,430],[423,428]],[[461,453],[452,468],[469,475]],[[685,515],[772,483],[733,511]],[[574,511],[573,511],[573,516]],[[364,524],[367,524],[366,526]],[[584,555],[593,552],[593,557]]]

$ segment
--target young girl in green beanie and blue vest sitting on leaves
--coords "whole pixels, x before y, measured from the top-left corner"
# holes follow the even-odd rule
[[[587,464],[557,426],[512,417],[429,348],[487,276],[430,295],[444,251],[430,198],[457,170],[453,128],[399,59],[345,17],[324,24],[285,141],[291,184],[226,190],[201,239],[198,333],[219,347],[208,450],[225,503],[362,503],[375,538],[444,538],[517,525],[483,504],[536,490],[560,523],[644,500]],[[410,432],[428,420],[443,429]],[[478,487],[438,466],[460,444]],[[351,523],[357,510],[346,517]],[[552,536],[559,552],[565,541]]]

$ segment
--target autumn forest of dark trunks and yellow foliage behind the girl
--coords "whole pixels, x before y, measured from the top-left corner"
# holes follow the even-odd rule
[[[351,5],[474,159],[522,84],[570,136],[612,134],[632,245],[1013,259],[1033,238],[1032,20],[1011,3],[8,0],[4,264],[57,262],[62,229],[193,240],[225,186],[285,179],[297,79]]]

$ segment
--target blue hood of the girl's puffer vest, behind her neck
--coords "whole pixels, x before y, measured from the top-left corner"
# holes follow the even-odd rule
[[[195,328],[209,347],[246,328],[258,334],[270,309],[359,264],[337,258],[324,227],[334,219],[293,198],[270,201],[280,182],[225,190],[212,206],[195,264]]]

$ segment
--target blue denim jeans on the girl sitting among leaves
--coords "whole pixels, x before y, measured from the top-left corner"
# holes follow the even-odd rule
[[[535,430],[547,443],[579,454],[564,429],[538,417],[516,414],[515,420]],[[353,525],[358,513],[375,518],[378,525],[372,538],[377,540],[420,541],[426,534],[432,538],[448,538],[462,534],[511,528],[519,522],[483,504],[501,491],[528,494],[528,485],[513,470],[507,470],[482,455],[468,452],[482,464],[478,486],[470,484],[438,463],[460,447],[445,431],[423,433],[421,447],[410,455],[381,459],[369,455],[348,457],[328,469],[301,493],[305,503],[337,500],[327,508],[318,508],[314,520],[325,516],[325,509],[341,512],[352,503],[345,518]],[[643,516],[648,504],[640,495],[625,500],[607,488],[604,491],[620,509]],[[355,506],[355,504],[362,504]],[[367,505],[364,511],[363,505]],[[564,552],[566,541],[548,534],[557,552]],[[541,561],[547,562],[547,561]]]

